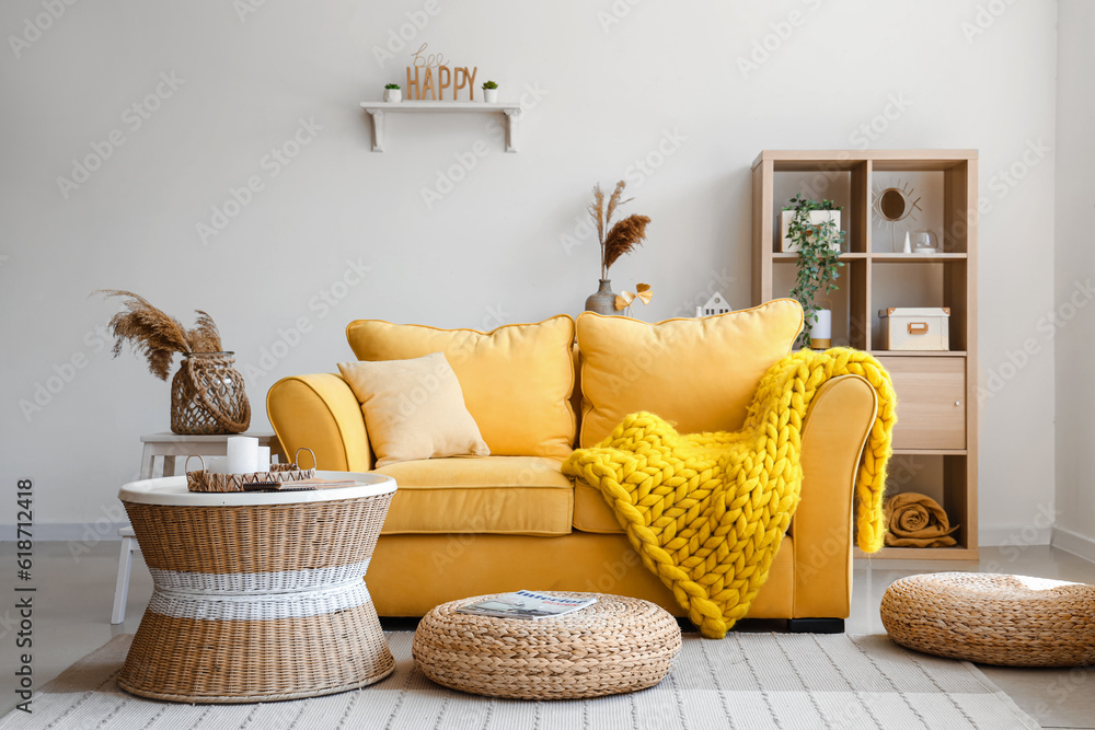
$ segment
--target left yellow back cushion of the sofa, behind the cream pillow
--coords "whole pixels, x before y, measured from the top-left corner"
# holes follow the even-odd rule
[[[574,320],[505,325],[488,333],[358,320],[346,338],[359,360],[406,360],[443,352],[492,454],[565,459],[574,443],[570,408]]]

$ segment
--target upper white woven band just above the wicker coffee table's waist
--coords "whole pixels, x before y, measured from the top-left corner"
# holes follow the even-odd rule
[[[149,568],[157,588],[195,593],[274,593],[325,588],[346,581],[361,581],[369,561],[353,563],[330,568],[306,570],[278,570],[275,572],[183,572]]]

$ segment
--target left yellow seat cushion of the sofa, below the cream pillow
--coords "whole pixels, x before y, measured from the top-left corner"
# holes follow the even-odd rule
[[[383,534],[565,535],[574,488],[561,464],[537,456],[453,456],[379,468],[399,485]]]

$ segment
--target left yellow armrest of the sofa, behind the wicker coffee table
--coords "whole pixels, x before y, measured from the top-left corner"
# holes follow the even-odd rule
[[[266,413],[289,459],[298,448],[307,447],[315,453],[318,468],[372,468],[361,405],[342,376],[319,373],[283,378],[266,394]]]

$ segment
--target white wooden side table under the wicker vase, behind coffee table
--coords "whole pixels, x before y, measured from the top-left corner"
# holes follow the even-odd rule
[[[175,457],[182,456],[183,461],[191,454],[203,456],[227,456],[228,437],[251,436],[258,439],[258,445],[269,447],[270,454],[284,457],[281,447],[277,437],[266,432],[247,433],[226,433],[223,436],[184,436],[161,431],[159,433],[146,433],[140,437],[145,444],[140,459],[140,478],[151,479],[155,471],[155,460],[162,463],[163,476],[175,475]],[[126,601],[129,598],[129,571],[132,568],[134,551],[137,549],[137,540],[130,526],[118,530],[122,537],[122,554],[118,556],[118,579],[114,587],[114,610],[111,612],[111,623],[120,624],[126,619]]]

